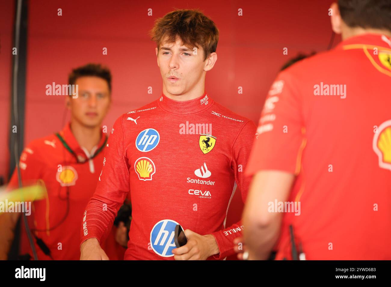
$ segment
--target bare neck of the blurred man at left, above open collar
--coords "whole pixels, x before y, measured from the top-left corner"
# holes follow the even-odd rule
[[[83,148],[86,148],[89,153],[96,146],[101,137],[100,126],[86,127],[78,121],[71,119],[71,131],[77,143]]]

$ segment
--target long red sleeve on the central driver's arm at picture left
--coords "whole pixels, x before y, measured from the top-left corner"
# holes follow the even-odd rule
[[[97,188],[83,214],[81,243],[95,237],[102,244],[108,237],[115,216],[129,193],[129,168],[120,116],[109,135]]]

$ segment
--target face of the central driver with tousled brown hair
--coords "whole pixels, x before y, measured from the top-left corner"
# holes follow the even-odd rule
[[[172,95],[181,95],[192,90],[197,84],[204,80],[204,68],[207,61],[204,61],[204,50],[182,46],[181,39],[177,38],[175,43],[167,43],[166,38],[156,48],[158,66],[163,86]]]

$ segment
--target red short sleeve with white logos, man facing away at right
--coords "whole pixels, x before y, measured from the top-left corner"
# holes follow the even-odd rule
[[[289,70],[271,86],[257,128],[246,175],[262,169],[287,171],[297,175],[305,147],[305,128],[300,92]]]

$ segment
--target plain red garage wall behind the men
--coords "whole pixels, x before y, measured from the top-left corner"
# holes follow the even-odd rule
[[[162,83],[156,64],[155,43],[148,31],[154,20],[174,9],[201,9],[220,31],[218,61],[206,76],[206,91],[214,100],[257,123],[267,91],[278,70],[298,52],[325,50],[332,30],[331,0],[301,1],[124,1],[34,0],[29,4],[25,144],[62,128],[63,96],[47,96],[47,84],[66,84],[72,68],[87,62],[109,66],[113,74],[113,104],[104,120],[111,130],[115,119],[160,96]],[[10,48],[13,5],[0,10],[2,46]],[[62,16],[57,16],[57,9]],[[152,9],[152,16],[148,16]],[[243,16],[238,16],[242,9]],[[6,32],[3,34],[3,32]],[[5,40],[4,40],[5,38]],[[335,43],[340,41],[336,37]],[[102,55],[102,48],[108,55]],[[283,48],[288,55],[283,55]],[[11,51],[11,48],[10,50]],[[2,55],[4,50],[2,49]],[[11,53],[11,52],[9,52]],[[9,122],[11,58],[2,59],[0,75],[1,163]],[[3,65],[5,64],[5,65]],[[153,94],[148,94],[151,86]],[[238,87],[243,94],[238,94]],[[3,160],[5,159],[5,160]],[[242,203],[237,193],[227,224],[239,219]]]

